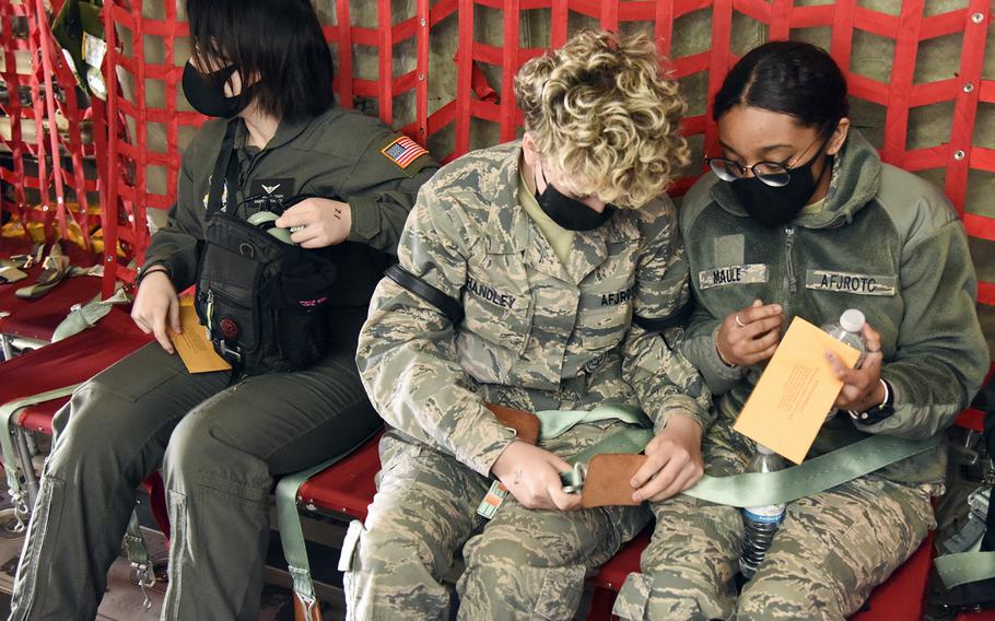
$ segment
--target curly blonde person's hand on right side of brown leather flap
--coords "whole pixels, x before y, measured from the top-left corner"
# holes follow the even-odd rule
[[[646,462],[629,484],[635,502],[659,502],[678,494],[701,479],[701,425],[691,417],[675,415],[646,445]]]

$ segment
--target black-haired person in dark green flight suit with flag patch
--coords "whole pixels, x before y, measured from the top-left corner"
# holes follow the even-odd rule
[[[355,339],[436,166],[379,121],[333,107],[331,56],[308,0],[188,0],[186,9],[195,44],[187,99],[233,120],[195,136],[169,225],[147,253],[132,317],[157,342],[84,384],[56,417],[11,619],[96,616],[136,488],[162,465],[173,535],[163,619],[255,621],[273,478],[347,453],[381,424],[355,368]],[[301,371],[190,374],[173,355],[176,292],[202,267],[229,127],[238,178],[221,212],[248,219],[273,201],[321,197],[277,222],[300,247],[335,248],[339,261],[326,293],[333,340]]]

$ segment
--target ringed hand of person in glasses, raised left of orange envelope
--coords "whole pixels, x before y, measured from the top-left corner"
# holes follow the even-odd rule
[[[715,349],[727,365],[749,366],[774,355],[781,342],[780,304],[757,300],[737,313],[730,314],[718,327]]]

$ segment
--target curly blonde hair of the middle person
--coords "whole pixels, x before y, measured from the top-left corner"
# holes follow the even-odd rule
[[[576,195],[622,208],[662,196],[689,162],[687,106],[645,35],[583,31],[515,77],[525,130]]]

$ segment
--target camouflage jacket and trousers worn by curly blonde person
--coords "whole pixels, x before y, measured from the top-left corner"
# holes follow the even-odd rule
[[[395,431],[382,446],[382,493],[349,577],[359,585],[349,597],[359,618],[396,618],[403,606],[429,617],[440,609],[440,572],[479,525],[487,477],[514,437],[484,402],[536,411],[612,401],[641,406],[657,429],[675,413],[710,423],[698,372],[659,333],[632,325],[633,315],[665,318],[689,300],[672,204],[618,211],[601,227],[578,232],[564,265],[518,206],[519,154],[518,143],[508,143],[444,167],[423,187],[401,236],[401,267],[459,301],[464,320],[454,326],[385,279],[360,335],[360,373]],[[676,342],[679,332],[667,339]],[[564,442],[580,442],[572,434]],[[394,454],[398,442],[409,446],[401,456]],[[639,515],[635,508],[531,512],[512,501],[465,551],[467,618],[506,618],[491,608],[505,602],[537,613],[574,606],[584,571],[637,530],[627,524],[633,518],[620,519]],[[506,552],[489,543],[507,539],[517,544]],[[391,551],[405,549],[398,540],[409,550],[400,559]],[[401,560],[408,569],[386,570]],[[573,573],[551,574],[543,587],[532,572],[557,562]],[[484,583],[487,593],[472,586]],[[492,590],[502,584],[507,588]],[[500,604],[491,599],[497,595]]]

